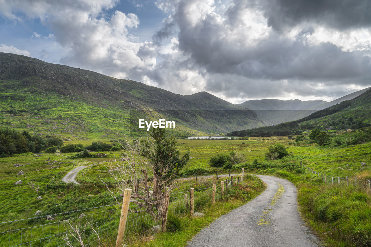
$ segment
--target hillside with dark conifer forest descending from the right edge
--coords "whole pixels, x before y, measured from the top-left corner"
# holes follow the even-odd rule
[[[227,133],[232,136],[284,136],[301,135],[303,130],[319,129],[359,129],[371,126],[371,88],[361,95],[313,112],[305,118],[275,126],[264,126],[253,129]]]

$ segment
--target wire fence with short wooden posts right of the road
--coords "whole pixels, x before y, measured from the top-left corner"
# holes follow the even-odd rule
[[[340,176],[331,177],[323,173],[320,174],[319,172],[313,170],[313,168],[306,165],[302,166],[305,167],[308,172],[311,172],[312,174],[321,178],[322,182],[324,182],[325,184],[352,186],[359,192],[371,194],[371,179],[365,178],[364,180],[360,180],[357,179],[357,176],[346,176],[345,178]]]

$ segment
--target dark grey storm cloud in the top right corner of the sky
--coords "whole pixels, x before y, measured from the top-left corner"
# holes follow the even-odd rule
[[[370,0],[264,0],[258,3],[268,25],[283,31],[303,22],[339,30],[370,27]]]

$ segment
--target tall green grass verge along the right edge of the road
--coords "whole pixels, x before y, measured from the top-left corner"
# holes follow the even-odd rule
[[[296,169],[300,171],[300,168]],[[322,184],[308,172],[266,169],[261,174],[286,178],[298,188],[299,212],[325,246],[371,246],[371,197],[352,184]]]

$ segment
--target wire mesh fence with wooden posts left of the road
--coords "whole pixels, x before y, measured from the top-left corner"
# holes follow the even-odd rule
[[[226,182],[226,180],[223,180]],[[231,185],[229,185],[231,186]],[[228,184],[226,184],[228,188]],[[194,190],[194,212],[204,212],[213,202],[213,187]],[[217,186],[215,200],[221,197]],[[191,193],[173,193],[168,202],[168,214],[189,216]],[[132,198],[126,220],[124,244],[146,241],[162,231],[163,195],[150,198]],[[37,215],[0,223],[1,247],[96,247],[114,246],[121,217],[119,203],[82,210]]]

